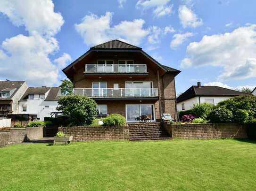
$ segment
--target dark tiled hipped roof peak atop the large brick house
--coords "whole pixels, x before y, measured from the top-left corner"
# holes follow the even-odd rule
[[[111,40],[100,45],[92,46],[91,49],[141,49],[138,46],[130,45],[121,40]]]

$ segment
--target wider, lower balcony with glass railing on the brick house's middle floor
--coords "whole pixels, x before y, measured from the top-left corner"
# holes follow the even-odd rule
[[[157,98],[158,88],[74,88],[73,93],[90,98]]]

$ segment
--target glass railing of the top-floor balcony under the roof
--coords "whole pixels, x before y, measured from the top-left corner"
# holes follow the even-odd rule
[[[85,64],[88,73],[145,73],[146,64]]]

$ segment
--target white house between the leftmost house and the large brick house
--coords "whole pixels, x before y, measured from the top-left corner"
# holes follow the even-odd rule
[[[44,121],[51,112],[58,112],[60,97],[60,87],[29,87],[19,100],[18,114],[37,115],[37,120]]]

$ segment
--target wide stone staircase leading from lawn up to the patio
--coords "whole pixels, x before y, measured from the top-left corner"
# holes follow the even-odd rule
[[[143,122],[129,124],[129,140],[164,140],[171,139],[168,132],[160,122]]]

